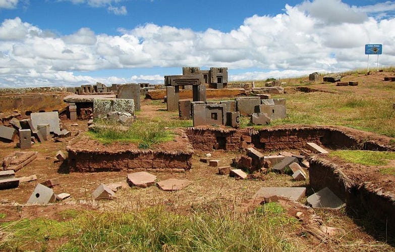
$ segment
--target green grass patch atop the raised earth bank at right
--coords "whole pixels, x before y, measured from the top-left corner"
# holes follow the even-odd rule
[[[390,160],[395,160],[395,153],[385,151],[341,150],[330,152],[328,155],[354,164],[371,166],[387,165]]]

